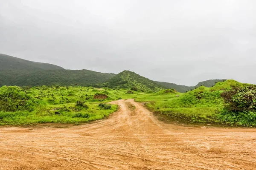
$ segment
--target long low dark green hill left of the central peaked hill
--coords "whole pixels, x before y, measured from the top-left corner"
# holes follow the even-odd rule
[[[90,70],[0,71],[0,86],[81,85],[106,82],[115,74]]]

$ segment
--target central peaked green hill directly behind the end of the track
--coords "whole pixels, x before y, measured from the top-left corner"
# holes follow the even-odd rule
[[[122,71],[105,83],[108,88],[131,88],[140,91],[159,91],[163,87],[154,81],[140,76],[132,71]]]

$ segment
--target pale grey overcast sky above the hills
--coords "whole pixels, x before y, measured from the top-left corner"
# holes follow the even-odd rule
[[[0,0],[0,53],[157,81],[256,84],[255,0]]]

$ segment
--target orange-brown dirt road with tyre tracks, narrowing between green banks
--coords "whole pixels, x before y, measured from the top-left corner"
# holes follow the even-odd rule
[[[86,125],[0,127],[0,170],[256,169],[256,129],[165,124],[132,99],[115,103]]]

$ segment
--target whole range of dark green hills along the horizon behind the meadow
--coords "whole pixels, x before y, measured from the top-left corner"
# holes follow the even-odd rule
[[[186,92],[204,85],[211,87],[224,79],[199,82],[196,86],[177,85],[169,82],[157,82],[142,77],[132,71],[119,74],[100,73],[90,70],[65,70],[58,65],[32,62],[5,54],[0,54],[0,86],[38,86],[38,85],[81,85],[108,88],[134,88],[142,91],[159,91],[173,88]]]

